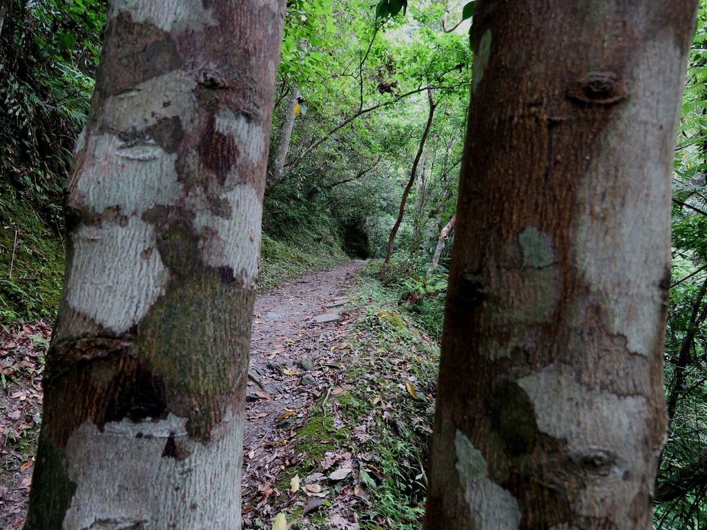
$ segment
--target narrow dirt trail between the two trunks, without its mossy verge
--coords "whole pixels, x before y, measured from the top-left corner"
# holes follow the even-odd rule
[[[246,528],[267,517],[270,495],[283,493],[276,484],[296,459],[294,428],[325,391],[322,380],[337,378],[341,367],[332,345],[345,341],[351,309],[344,291],[364,263],[350,261],[288,281],[255,302],[243,440]],[[327,314],[337,319],[315,322]]]

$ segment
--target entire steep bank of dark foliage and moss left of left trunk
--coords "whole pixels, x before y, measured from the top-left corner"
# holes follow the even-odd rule
[[[57,310],[62,186],[88,114],[107,1],[11,0],[6,6],[0,33],[3,325],[51,318]]]

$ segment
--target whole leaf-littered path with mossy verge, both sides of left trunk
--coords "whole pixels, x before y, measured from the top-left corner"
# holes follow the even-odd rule
[[[300,530],[421,526],[439,349],[397,293],[356,275],[363,265],[257,298],[244,530],[270,529],[279,513]],[[0,530],[25,519],[50,334],[44,322],[0,329]]]

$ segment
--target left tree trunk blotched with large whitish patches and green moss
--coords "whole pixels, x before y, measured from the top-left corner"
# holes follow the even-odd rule
[[[284,2],[115,0],[25,529],[238,529]]]

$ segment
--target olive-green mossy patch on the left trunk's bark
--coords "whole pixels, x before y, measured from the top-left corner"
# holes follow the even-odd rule
[[[254,298],[218,270],[197,268],[170,281],[139,324],[135,355],[163,382],[170,411],[189,418],[187,430],[200,440],[247,372]]]

